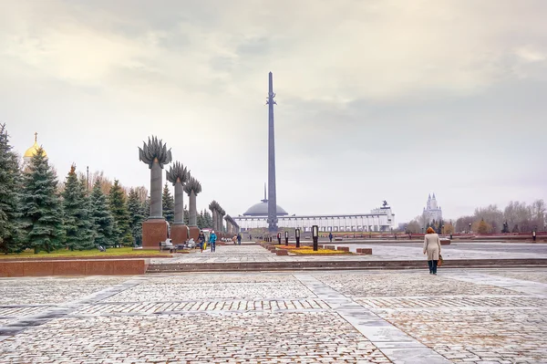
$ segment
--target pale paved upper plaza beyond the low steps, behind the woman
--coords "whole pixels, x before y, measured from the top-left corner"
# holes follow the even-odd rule
[[[325,243],[328,244],[328,243]],[[373,255],[274,255],[260,245],[217,245],[216,252],[210,250],[200,253],[177,255],[173,258],[151,259],[153,264],[170,263],[239,263],[239,262],[309,262],[309,261],[369,261],[369,260],[425,260],[422,244],[335,244],[356,248],[372,248]],[[529,246],[530,245],[530,246]],[[506,251],[503,251],[503,250]],[[547,244],[511,243],[459,243],[442,247],[445,259],[527,259],[547,258]]]

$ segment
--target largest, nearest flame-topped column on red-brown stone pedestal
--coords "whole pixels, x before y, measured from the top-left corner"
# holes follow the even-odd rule
[[[157,137],[149,138],[148,144],[139,148],[139,161],[150,168],[150,217],[142,223],[142,248],[159,249],[160,242],[167,239],[168,224],[162,216],[161,170],[172,160],[170,150]]]

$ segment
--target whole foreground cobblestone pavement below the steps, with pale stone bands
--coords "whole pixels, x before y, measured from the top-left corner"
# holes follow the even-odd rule
[[[547,363],[546,274],[5,278],[0,363]]]

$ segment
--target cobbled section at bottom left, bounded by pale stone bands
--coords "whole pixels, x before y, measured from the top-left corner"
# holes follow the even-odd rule
[[[330,312],[60,318],[5,339],[0,353],[10,363],[390,362]]]

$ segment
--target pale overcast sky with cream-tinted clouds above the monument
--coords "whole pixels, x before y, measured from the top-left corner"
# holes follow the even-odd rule
[[[0,122],[63,180],[150,188],[156,135],[232,216],[263,198],[396,223],[547,200],[543,0],[0,0]]]

